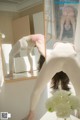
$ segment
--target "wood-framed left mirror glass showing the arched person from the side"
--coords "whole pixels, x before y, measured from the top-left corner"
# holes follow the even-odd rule
[[[39,73],[38,61],[45,51],[43,3],[35,7],[33,0],[29,6],[27,2],[6,0],[0,3],[3,5],[0,32],[5,34],[1,41],[5,80],[31,79]]]

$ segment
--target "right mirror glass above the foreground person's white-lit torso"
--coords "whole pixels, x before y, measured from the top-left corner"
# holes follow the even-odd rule
[[[74,42],[79,0],[44,0],[46,51],[56,41]]]

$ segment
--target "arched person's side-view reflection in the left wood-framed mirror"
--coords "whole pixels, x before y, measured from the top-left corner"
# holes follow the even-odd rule
[[[7,77],[13,76],[13,59],[14,57],[20,53],[20,50],[26,50],[29,62],[30,62],[30,72],[33,72],[33,60],[31,56],[31,52],[33,48],[36,46],[40,54],[45,56],[45,47],[44,47],[44,35],[42,34],[33,34],[24,36],[17,41],[17,43],[13,46],[10,54],[9,54],[9,74]]]

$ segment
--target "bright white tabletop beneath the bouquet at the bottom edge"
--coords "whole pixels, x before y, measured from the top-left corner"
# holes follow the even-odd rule
[[[57,118],[56,113],[50,113],[47,112],[40,120],[64,120],[63,118]],[[80,120],[79,118],[76,118],[73,115],[70,115],[70,118],[68,118],[67,120]]]

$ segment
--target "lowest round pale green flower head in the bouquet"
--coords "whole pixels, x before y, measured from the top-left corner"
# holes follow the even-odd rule
[[[66,104],[61,103],[56,108],[56,115],[60,118],[70,117],[71,112],[72,112],[72,110],[68,103],[66,103]]]

